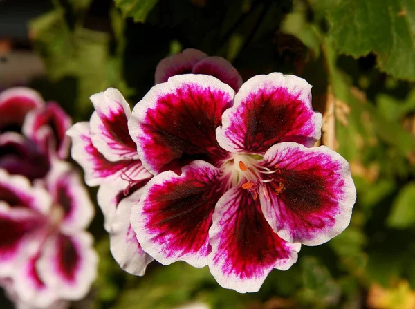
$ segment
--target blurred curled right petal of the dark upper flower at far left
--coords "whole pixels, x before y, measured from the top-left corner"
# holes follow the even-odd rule
[[[22,131],[30,140],[43,147],[44,152],[52,151],[60,159],[68,156],[71,140],[65,135],[71,127],[71,117],[55,102],[48,102],[44,109],[28,113]]]

